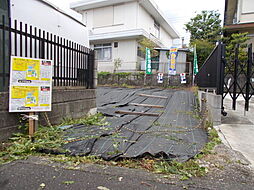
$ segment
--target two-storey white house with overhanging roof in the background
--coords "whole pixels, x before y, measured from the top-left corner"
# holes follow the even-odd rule
[[[83,0],[71,4],[83,15],[89,29],[91,48],[95,49],[98,71],[141,70],[144,54],[138,41],[144,37],[158,47],[170,48],[179,38],[152,0]]]

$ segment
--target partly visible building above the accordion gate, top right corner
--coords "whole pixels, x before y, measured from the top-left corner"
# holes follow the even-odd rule
[[[254,1],[226,0],[224,15],[224,35],[248,32],[249,43],[254,43]]]

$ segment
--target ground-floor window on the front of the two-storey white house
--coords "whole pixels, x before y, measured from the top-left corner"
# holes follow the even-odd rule
[[[109,61],[112,59],[111,43],[94,45],[95,59],[100,61]]]

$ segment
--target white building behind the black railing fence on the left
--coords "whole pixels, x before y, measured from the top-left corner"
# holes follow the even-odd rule
[[[3,17],[4,16],[4,17]],[[0,24],[2,24],[2,18],[5,18],[5,25],[9,25],[9,18],[11,20],[11,27],[15,28],[15,20],[17,20],[17,31],[25,32],[25,24],[27,24],[27,31],[29,34],[35,35],[35,27],[37,28],[37,34],[39,35],[39,29],[49,32],[53,35],[63,37],[69,42],[78,43],[89,47],[88,29],[82,21],[79,21],[64,11],[60,10],[56,6],[52,5],[46,0],[0,0]],[[22,22],[22,25],[20,24]],[[30,26],[32,26],[32,32],[30,32]],[[10,38],[9,34],[3,29],[0,30],[0,83],[6,74],[9,73],[9,48]],[[42,37],[42,32],[41,32]],[[45,36],[46,37],[46,36]],[[31,57],[39,56],[41,50],[41,44],[38,40],[34,39],[30,43],[25,43],[25,35],[20,37],[20,34],[11,34],[11,55],[25,56],[25,49]],[[23,41],[23,43],[22,43]],[[26,42],[29,40],[27,39]],[[30,41],[29,41],[30,42]],[[26,44],[28,44],[26,46]],[[26,48],[25,48],[26,47]],[[34,48],[36,47],[36,48]],[[48,49],[50,46],[48,47]],[[33,49],[33,51],[32,51]],[[30,51],[31,50],[31,51]],[[44,49],[45,50],[45,49]],[[36,54],[36,56],[35,56]],[[53,53],[51,53],[52,55]],[[56,54],[56,53],[55,53]],[[56,57],[56,56],[55,56]],[[60,57],[60,56],[59,56]],[[58,58],[59,59],[59,58]],[[63,56],[62,56],[63,59]],[[66,67],[62,65],[62,61],[55,62],[60,67]],[[72,68],[73,66],[69,66]],[[3,71],[4,68],[5,70]],[[75,75],[75,74],[72,74]],[[76,73],[77,75],[77,73]],[[5,80],[5,86],[8,86],[8,80]],[[1,91],[1,88],[0,88]]]

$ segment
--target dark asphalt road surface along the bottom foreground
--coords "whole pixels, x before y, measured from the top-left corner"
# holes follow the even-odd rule
[[[226,152],[225,152],[226,151]],[[222,153],[223,152],[223,153]],[[217,155],[232,153],[222,148]],[[218,157],[222,159],[222,157]],[[218,158],[217,161],[218,161]],[[214,158],[211,162],[215,161]],[[0,166],[1,190],[251,190],[253,173],[243,165],[224,163],[205,177],[180,181],[139,169],[80,164],[70,169],[67,163],[51,162],[43,157],[31,157]]]

